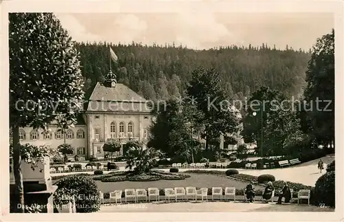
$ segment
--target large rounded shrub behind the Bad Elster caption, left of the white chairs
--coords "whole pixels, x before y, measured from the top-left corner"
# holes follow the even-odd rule
[[[58,186],[58,189],[54,193],[54,201],[56,204],[60,206],[67,204],[69,198],[74,197],[76,212],[97,212],[100,209],[98,187],[96,182],[90,177],[69,175],[58,181],[56,185]]]

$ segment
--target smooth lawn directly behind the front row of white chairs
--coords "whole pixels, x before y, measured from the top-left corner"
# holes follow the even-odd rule
[[[197,188],[205,187],[211,188],[214,186],[233,186],[237,189],[243,189],[248,183],[229,179],[222,175],[206,175],[189,173],[191,177],[182,180],[158,180],[158,181],[120,181],[120,182],[102,182],[96,181],[98,189],[102,192],[112,192],[114,190],[125,190],[127,188],[175,188],[178,186],[195,186]],[[256,189],[263,190],[261,186],[256,186]]]

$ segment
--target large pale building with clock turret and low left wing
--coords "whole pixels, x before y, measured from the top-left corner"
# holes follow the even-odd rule
[[[57,148],[64,142],[74,147],[70,156],[104,157],[103,145],[107,140],[118,140],[121,144],[137,140],[146,146],[149,140],[149,126],[153,116],[149,102],[116,82],[116,76],[109,72],[105,82],[98,82],[88,100],[87,108],[78,116],[74,128],[62,133],[56,124],[50,124],[50,133],[20,129],[21,144],[49,145]],[[114,155],[123,155],[123,150]]]

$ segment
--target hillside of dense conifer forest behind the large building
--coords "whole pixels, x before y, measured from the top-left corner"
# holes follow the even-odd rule
[[[215,67],[222,73],[228,96],[243,99],[262,85],[298,95],[305,85],[310,54],[293,49],[260,47],[220,47],[193,50],[174,45],[111,45],[118,64],[111,63],[118,82],[125,83],[148,99],[167,99],[184,94],[193,69]],[[109,71],[108,43],[77,43],[85,91],[103,81]]]

